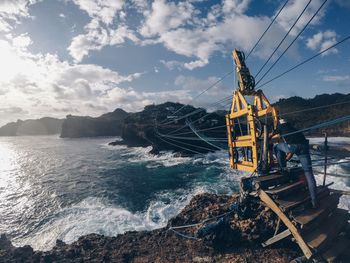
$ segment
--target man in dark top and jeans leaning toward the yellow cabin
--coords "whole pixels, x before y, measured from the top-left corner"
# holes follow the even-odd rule
[[[297,155],[306,177],[310,192],[312,207],[317,207],[316,180],[312,171],[312,163],[309,152],[309,140],[286,120],[279,119],[276,130],[270,136],[279,139],[279,143],[273,147],[281,172],[285,171],[287,162]]]

